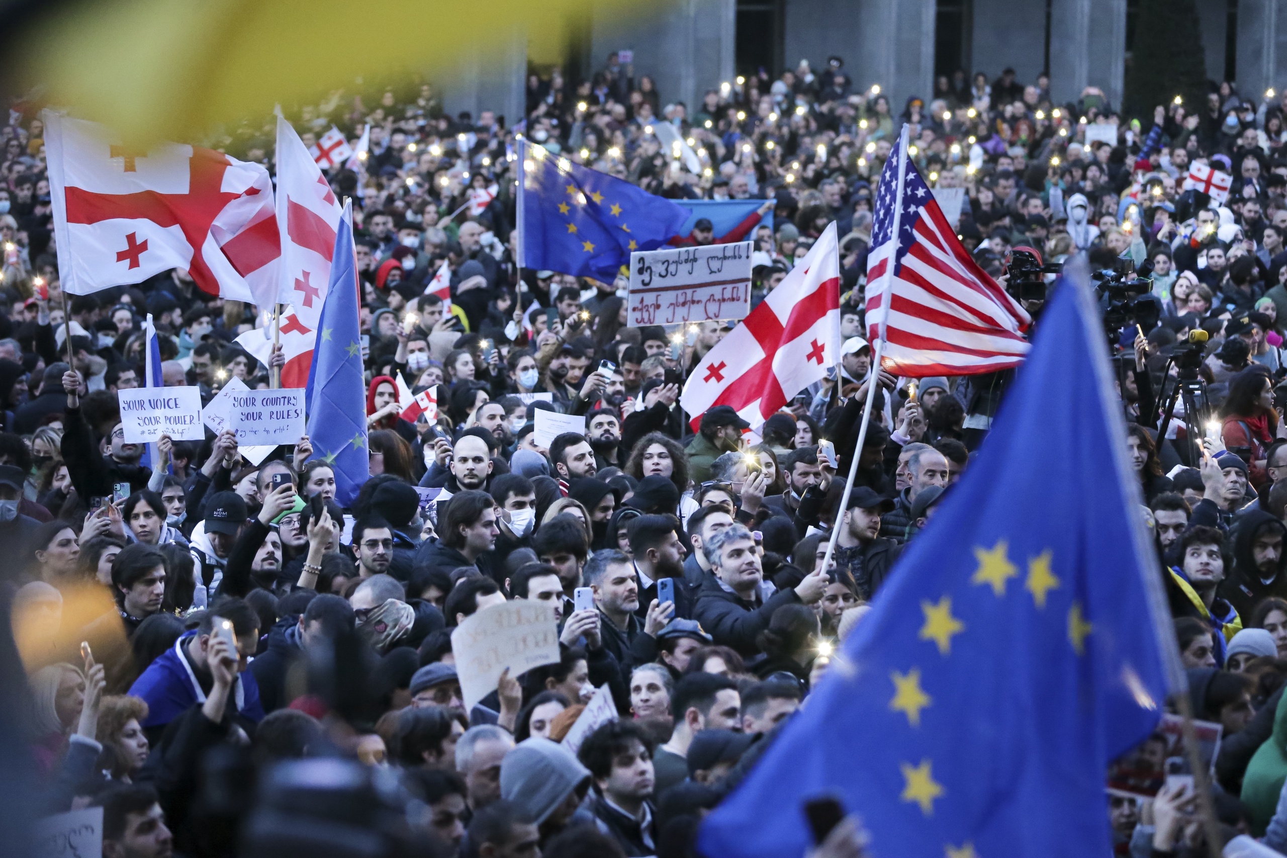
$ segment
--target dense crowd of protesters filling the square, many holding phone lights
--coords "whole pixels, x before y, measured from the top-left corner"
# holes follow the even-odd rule
[[[909,384],[871,366],[874,184],[906,122],[929,184],[964,189],[960,240],[994,277],[1014,286],[1014,247],[1109,269],[1127,256],[1151,276],[1112,331],[1129,452],[1193,710],[1223,728],[1220,822],[1287,850],[1287,93],[1257,104],[1212,85],[1205,104],[1176,98],[1127,121],[1095,89],[1058,104],[1044,76],[959,72],[898,113],[831,57],[687,106],[618,59],[588,80],[533,75],[510,125],[445,115],[427,84],[290,116],[306,146],[332,124],[350,139],[369,126],[356,169],[328,171],[354,200],[367,336],[369,479],[346,508],[308,438],[257,464],[230,432],[125,441],[116,392],[142,384],[145,314],[163,383],[203,402],[232,377],[269,386],[234,343],[264,314],[180,269],[67,300],[37,106],[13,106],[0,581],[30,684],[37,813],[102,806],[109,858],[314,843],[695,854],[701,814],[807,705],[1006,388],[1009,374]],[[660,124],[698,170],[659,142]],[[215,143],[270,164],[270,128]],[[629,327],[620,278],[519,269],[519,134],[665,197],[763,198],[757,304],[837,222],[835,372],[759,426],[726,406],[683,414],[689,372],[735,322]],[[1223,205],[1184,188],[1194,164],[1233,176]],[[719,237],[699,222],[681,240]],[[426,290],[444,262],[449,303]],[[1039,314],[1040,296],[1024,301]],[[1193,331],[1205,347],[1185,345]],[[1183,348],[1198,349],[1210,414],[1169,398]],[[403,419],[398,381],[431,389],[436,415]],[[539,410],[586,429],[541,446]],[[560,661],[506,672],[467,710],[450,633],[510,599],[553,609]],[[569,748],[602,687],[616,720]],[[1196,799],[1115,796],[1106,826],[1121,854],[1196,855]],[[793,796],[782,813],[798,813]],[[373,840],[344,840],[359,835]],[[862,852],[846,822],[816,855]]]

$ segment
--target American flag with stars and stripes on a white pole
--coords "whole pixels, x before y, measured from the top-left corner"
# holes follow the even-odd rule
[[[925,377],[977,375],[1022,363],[1028,353],[1023,331],[1032,319],[961,247],[907,158],[906,128],[880,174],[874,214],[866,321],[867,339],[884,341],[883,368]]]

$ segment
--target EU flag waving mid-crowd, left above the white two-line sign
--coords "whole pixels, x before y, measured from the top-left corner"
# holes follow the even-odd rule
[[[678,234],[689,211],[665,197],[519,142],[519,265],[613,282],[631,253]]]

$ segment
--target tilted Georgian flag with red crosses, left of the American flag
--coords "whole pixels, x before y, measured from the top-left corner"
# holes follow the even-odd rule
[[[840,359],[840,254],[835,223],[759,307],[701,358],[680,403],[692,417],[732,406],[752,429]]]

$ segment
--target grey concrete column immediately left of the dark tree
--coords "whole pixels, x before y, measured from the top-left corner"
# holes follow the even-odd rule
[[[978,57],[979,45],[976,44],[976,62]],[[1126,0],[1051,0],[1050,95],[1054,100],[1076,102],[1086,86],[1098,86],[1113,108],[1120,110],[1125,63]]]

